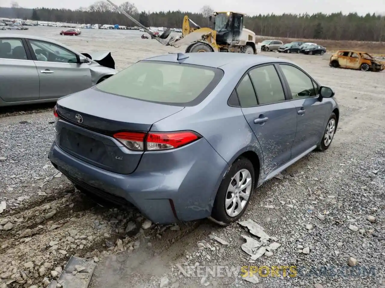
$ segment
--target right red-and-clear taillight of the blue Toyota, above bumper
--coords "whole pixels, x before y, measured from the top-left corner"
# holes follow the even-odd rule
[[[119,132],[114,134],[128,149],[135,151],[159,151],[179,148],[201,138],[192,131],[178,132]]]

